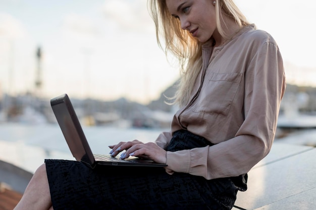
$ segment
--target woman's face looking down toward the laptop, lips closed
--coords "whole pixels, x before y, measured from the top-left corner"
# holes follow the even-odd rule
[[[214,0],[166,0],[169,12],[178,18],[200,42],[206,42],[217,29]]]

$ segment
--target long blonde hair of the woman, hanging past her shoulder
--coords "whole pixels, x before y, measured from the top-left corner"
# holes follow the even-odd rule
[[[180,107],[184,106],[190,100],[194,83],[202,68],[202,43],[192,37],[187,30],[181,28],[180,21],[170,14],[166,0],[148,0],[148,9],[155,24],[159,46],[165,51],[166,55],[170,52],[179,60],[181,77],[178,90],[175,96],[170,99],[174,100],[172,104],[179,104]],[[249,25],[233,0],[217,0],[217,28],[225,38],[229,38],[229,36],[223,28],[227,28],[226,23],[222,21],[223,16],[235,20],[240,28]],[[164,47],[162,38],[165,43]]]

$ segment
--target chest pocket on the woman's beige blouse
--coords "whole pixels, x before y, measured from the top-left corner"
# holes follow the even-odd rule
[[[193,108],[194,112],[227,116],[237,93],[242,74],[211,73],[202,86]]]

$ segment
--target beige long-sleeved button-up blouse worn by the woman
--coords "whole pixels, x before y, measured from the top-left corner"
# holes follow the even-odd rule
[[[174,131],[187,129],[216,145],[167,152],[167,173],[238,176],[270,152],[286,87],[283,60],[272,36],[254,25],[225,45],[207,43],[202,50],[190,102],[174,115],[171,132],[155,142],[166,149]]]

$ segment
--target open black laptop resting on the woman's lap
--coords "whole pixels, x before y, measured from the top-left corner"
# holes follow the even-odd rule
[[[77,161],[83,162],[90,168],[96,165],[107,166],[137,166],[137,167],[166,167],[166,164],[155,163],[136,157],[121,160],[111,155],[94,155],[90,149],[82,127],[67,94],[50,100],[58,124],[64,134],[68,147]]]

